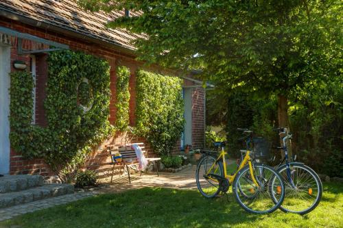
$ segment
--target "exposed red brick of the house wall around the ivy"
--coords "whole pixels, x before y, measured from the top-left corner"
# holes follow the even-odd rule
[[[119,53],[115,49],[108,49],[107,47],[99,47],[99,45],[84,42],[82,40],[78,40],[75,38],[67,37],[62,34],[56,34],[54,32],[45,31],[44,29],[38,29],[36,27],[31,27],[29,25],[25,25],[23,23],[19,23],[16,21],[11,21],[7,18],[0,17],[0,26],[8,27],[10,29],[14,29],[16,31],[21,31],[27,34],[32,34],[34,36],[38,36],[40,38],[46,38],[49,40],[53,40],[56,42],[64,43],[69,45],[69,47],[74,51],[84,51],[85,53],[89,53],[92,55],[97,55],[101,58],[105,58],[108,60],[110,64],[110,90],[112,92],[112,97],[110,99],[110,116],[109,121],[110,123],[115,123],[115,103],[116,103],[116,91],[115,91],[115,82],[116,82],[116,73],[115,68],[118,65],[128,66],[131,71],[130,77],[130,125],[134,126],[135,124],[135,115],[134,115],[134,107],[136,105],[136,91],[135,91],[135,84],[136,84],[136,75],[135,72],[137,68],[142,66],[141,62],[137,62],[134,60],[134,56],[124,55]],[[18,55],[16,52],[16,39],[12,38],[12,51],[11,51],[11,61],[13,60],[24,60],[27,62],[29,66],[29,55]],[[23,43],[24,49],[32,49],[32,47],[36,48],[38,44],[34,42],[25,41]],[[45,99],[45,86],[47,83],[47,55],[40,54],[36,55],[36,124],[40,126],[46,126],[47,120],[45,117],[44,112],[44,99]],[[152,71],[160,71],[161,69],[158,68],[149,68]],[[14,69],[12,68],[12,71]],[[169,71],[164,71],[163,73],[170,73]],[[191,82],[185,82],[185,84],[193,84]],[[203,94],[201,92],[196,92],[193,94],[193,101],[196,102],[196,105],[201,107],[200,99],[203,99]],[[198,106],[196,106],[198,107]],[[201,141],[201,134],[203,135],[203,127],[200,125],[200,118],[201,113],[203,110],[199,112],[194,112],[194,117],[197,118],[195,124],[195,131],[196,137],[193,139],[193,142],[196,142],[196,145],[202,144]],[[203,122],[203,121],[202,121]],[[199,125],[200,124],[200,125]],[[200,134],[200,131],[202,133]],[[203,137],[203,136],[202,136]],[[121,145],[126,143],[132,142],[145,142],[143,138],[135,138],[134,136],[125,137],[121,133],[115,134],[109,140],[106,140],[102,145],[100,145],[93,153],[89,156],[88,160],[84,168],[91,168],[93,170],[97,170],[99,175],[106,175],[108,170],[110,170],[110,166],[104,165],[106,162],[110,161],[110,157],[108,156],[108,152],[106,151],[106,147],[108,144],[113,145]],[[149,151],[150,156],[154,156],[150,146],[146,144],[146,149]],[[180,140],[178,141],[174,151],[178,151],[180,149]],[[25,160],[23,157],[16,153],[15,151],[11,150],[10,154],[10,174],[19,174],[19,173],[40,173],[42,175],[53,175],[49,167],[44,163],[43,160]]]

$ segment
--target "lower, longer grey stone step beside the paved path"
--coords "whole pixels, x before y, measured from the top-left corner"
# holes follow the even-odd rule
[[[0,208],[21,205],[49,197],[57,197],[74,192],[74,186],[67,183],[49,183],[40,187],[0,194]]]

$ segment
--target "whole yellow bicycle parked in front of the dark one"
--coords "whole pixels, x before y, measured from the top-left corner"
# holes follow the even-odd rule
[[[250,139],[251,136],[248,137]],[[248,140],[247,145],[250,144]],[[225,142],[215,142],[215,146],[222,148],[220,154],[215,157],[210,151],[203,151],[196,168],[196,183],[204,197],[216,197],[220,192],[227,192],[232,185],[237,203],[248,212],[271,213],[281,206],[285,198],[285,184],[279,173],[270,166],[252,162],[252,152],[247,148],[236,172],[228,175]]]

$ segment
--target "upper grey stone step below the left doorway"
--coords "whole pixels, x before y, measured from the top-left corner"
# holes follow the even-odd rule
[[[18,192],[36,186],[43,186],[43,177],[40,175],[5,175],[0,177],[0,194]]]

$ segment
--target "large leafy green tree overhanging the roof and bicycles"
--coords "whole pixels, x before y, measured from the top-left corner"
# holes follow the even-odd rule
[[[200,68],[202,79],[223,93],[276,94],[280,127],[289,126],[289,92],[313,79],[337,76],[337,64],[342,64],[338,0],[80,0],[80,4],[94,11],[135,12],[108,27],[145,34],[136,45],[139,59],[148,64]]]

